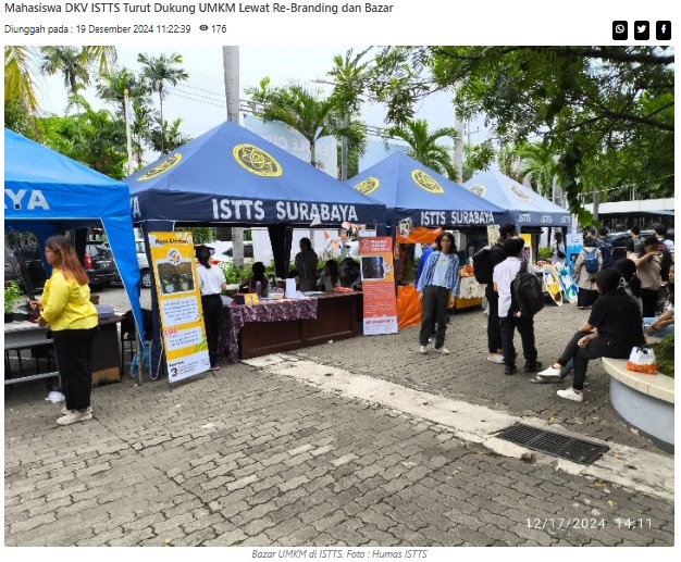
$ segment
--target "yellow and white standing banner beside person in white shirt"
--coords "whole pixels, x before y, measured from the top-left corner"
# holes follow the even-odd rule
[[[176,383],[210,369],[199,277],[190,233],[149,233],[159,297],[168,379]]]

